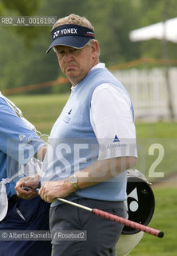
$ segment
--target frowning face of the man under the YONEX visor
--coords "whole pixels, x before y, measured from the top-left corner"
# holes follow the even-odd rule
[[[56,46],[57,60],[61,71],[65,74],[73,86],[81,82],[88,71],[98,63],[98,43],[75,49],[69,46]]]

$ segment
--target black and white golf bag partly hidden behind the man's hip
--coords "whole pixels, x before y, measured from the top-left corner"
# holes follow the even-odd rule
[[[138,170],[128,170],[128,199],[125,202],[127,218],[145,226],[151,221],[155,198],[150,183]],[[128,255],[140,242],[144,232],[124,226],[117,243],[119,256]]]

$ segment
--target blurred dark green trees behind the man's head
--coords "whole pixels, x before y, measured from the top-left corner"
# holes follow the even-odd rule
[[[134,59],[162,58],[162,42],[131,42],[131,30],[176,16],[175,0],[0,0],[2,16],[57,16],[71,13],[88,18],[100,42],[100,61],[112,66]],[[60,70],[51,51],[50,26],[0,26],[0,90],[57,79]],[[177,58],[175,43],[167,42],[168,58]],[[68,90],[69,85],[65,86]],[[52,93],[48,88],[34,93]]]

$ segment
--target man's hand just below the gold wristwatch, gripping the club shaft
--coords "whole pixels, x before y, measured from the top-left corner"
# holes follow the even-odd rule
[[[65,198],[74,192],[69,179],[56,182],[44,182],[39,190],[39,195],[45,202],[54,202],[57,198]]]

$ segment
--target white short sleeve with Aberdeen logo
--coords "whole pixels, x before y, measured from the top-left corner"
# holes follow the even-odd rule
[[[136,127],[131,100],[112,84],[97,86],[92,94],[90,121],[99,142],[99,159],[137,157]]]

